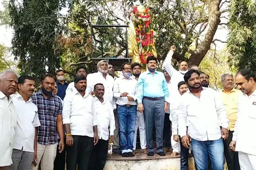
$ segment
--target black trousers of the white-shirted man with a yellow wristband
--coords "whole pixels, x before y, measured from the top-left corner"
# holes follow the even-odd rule
[[[88,170],[93,150],[93,137],[72,135],[74,144],[67,147],[67,170]]]

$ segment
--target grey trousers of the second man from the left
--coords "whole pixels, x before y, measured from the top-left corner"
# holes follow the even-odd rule
[[[18,149],[12,151],[11,170],[29,170],[33,162],[34,152],[27,152]]]

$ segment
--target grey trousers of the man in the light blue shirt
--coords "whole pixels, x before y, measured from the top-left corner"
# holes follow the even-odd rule
[[[163,152],[163,130],[164,130],[164,99],[142,100],[144,106],[144,120],[147,137],[148,152],[154,152],[153,148],[153,126],[156,128],[156,152]]]

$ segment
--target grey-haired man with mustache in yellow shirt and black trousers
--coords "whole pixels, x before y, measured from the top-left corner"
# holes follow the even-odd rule
[[[225,158],[228,169],[240,170],[238,152],[234,152],[228,148],[232,141],[234,127],[237,120],[238,100],[241,97],[242,92],[234,88],[234,78],[232,74],[223,74],[221,76],[221,82],[223,90],[220,91],[220,95],[222,97],[223,104],[226,107],[229,119],[229,137],[227,140],[223,140]]]

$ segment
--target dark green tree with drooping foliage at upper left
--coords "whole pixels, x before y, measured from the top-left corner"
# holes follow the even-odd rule
[[[64,6],[61,0],[10,0],[9,13],[14,30],[12,52],[18,60],[21,74],[29,74],[40,82],[46,73],[54,74],[60,65],[61,53],[56,35],[62,31],[58,12]]]

